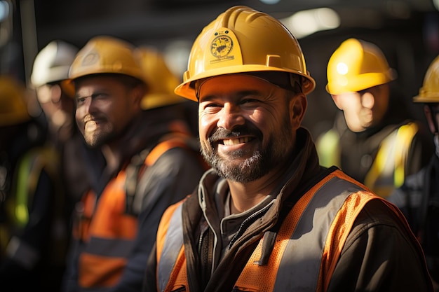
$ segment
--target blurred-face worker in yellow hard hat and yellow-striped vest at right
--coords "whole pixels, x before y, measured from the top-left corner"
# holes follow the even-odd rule
[[[320,164],[336,165],[381,197],[426,165],[428,132],[410,120],[403,97],[391,91],[396,73],[373,43],[347,39],[327,64],[326,90],[341,110],[316,139]]]

